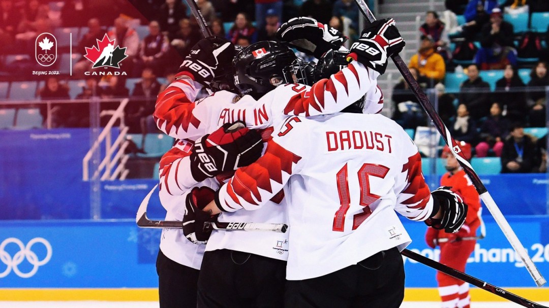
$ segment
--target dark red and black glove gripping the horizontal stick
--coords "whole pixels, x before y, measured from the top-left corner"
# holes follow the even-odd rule
[[[215,192],[210,187],[194,187],[185,199],[183,216],[183,234],[195,244],[205,244],[210,238],[211,230],[204,229],[204,223],[217,220],[218,215],[211,216],[202,209],[214,199]]]

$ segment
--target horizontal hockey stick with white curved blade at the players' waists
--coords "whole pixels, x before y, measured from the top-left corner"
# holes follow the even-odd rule
[[[147,196],[141,202],[137,210],[136,223],[142,228],[161,228],[161,229],[183,229],[183,222],[177,220],[150,220],[147,217],[147,206],[150,196],[153,195],[158,184],[149,191]],[[259,223],[220,223],[214,221],[212,223],[204,223],[204,230],[223,230],[223,231],[268,231],[285,233],[288,230],[288,225],[285,224],[259,224]]]

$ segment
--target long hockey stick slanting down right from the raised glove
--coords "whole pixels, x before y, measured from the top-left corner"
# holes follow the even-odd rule
[[[369,22],[373,22],[376,20],[364,0],[355,0],[355,2],[358,5],[358,8],[360,9],[362,15],[364,15]],[[514,233],[513,229],[501,213],[500,208],[497,207],[496,202],[494,201],[492,196],[490,196],[490,193],[488,192],[488,190],[486,190],[486,187],[484,186],[482,181],[480,181],[479,176],[477,175],[477,173],[475,173],[473,167],[463,155],[460,146],[457,144],[456,140],[452,138],[452,136],[450,135],[450,131],[448,130],[448,128],[446,128],[438,113],[436,113],[433,105],[431,105],[431,103],[429,102],[427,95],[423,93],[423,90],[419,87],[416,79],[414,79],[411,75],[410,70],[408,70],[408,67],[406,66],[404,60],[402,60],[399,55],[392,55],[391,58],[393,59],[393,62],[395,62],[397,69],[399,69],[400,73],[402,74],[402,77],[404,77],[404,79],[410,86],[410,89],[412,89],[413,94],[416,95],[419,104],[421,104],[425,112],[427,112],[427,115],[433,121],[436,129],[439,131],[446,144],[450,147],[450,151],[452,152],[453,156],[456,157],[457,161],[460,163],[467,176],[469,176],[469,179],[473,182],[473,185],[475,186],[475,189],[477,189],[480,198],[484,201],[484,204],[486,204],[486,207],[488,208],[488,210],[490,210],[492,216],[494,216],[497,225],[500,227],[501,231],[507,238],[507,241],[511,243],[511,246],[513,247],[515,252],[517,252],[517,254],[520,256],[520,259],[522,259],[524,265],[526,266],[526,270],[528,270],[530,276],[532,276],[538,287],[543,286],[546,282],[545,278],[541,276],[540,271],[537,269],[532,259],[530,259],[530,256],[528,256],[528,253],[524,249],[524,246],[522,245],[522,243],[520,243],[517,235]]]

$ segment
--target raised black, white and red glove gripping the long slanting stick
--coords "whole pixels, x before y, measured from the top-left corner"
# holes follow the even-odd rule
[[[358,41],[351,45],[348,60],[354,59],[383,74],[388,57],[400,53],[405,45],[393,19],[376,20],[366,26]]]

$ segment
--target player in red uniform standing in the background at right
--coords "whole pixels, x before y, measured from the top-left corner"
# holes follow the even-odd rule
[[[466,142],[461,142],[460,147],[465,158],[470,159],[471,146]],[[436,244],[440,242],[440,263],[464,272],[467,259],[474,251],[477,243],[475,236],[481,222],[480,196],[447,146],[444,153],[447,153],[446,170],[448,172],[442,175],[440,185],[451,186],[452,191],[459,193],[463,198],[463,202],[467,204],[469,211],[465,224],[459,232],[445,233],[429,227],[425,234],[425,241],[431,248],[435,248]],[[442,238],[444,240],[439,241]],[[462,238],[466,239],[462,241]],[[436,272],[436,281],[439,285],[442,308],[469,308],[469,283],[442,272]]]

